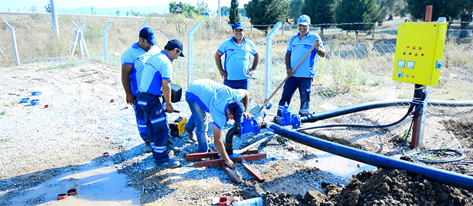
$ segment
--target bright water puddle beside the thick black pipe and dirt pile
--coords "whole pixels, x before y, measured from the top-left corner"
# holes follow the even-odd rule
[[[312,159],[302,160],[302,154],[294,151],[282,151],[282,156],[286,159],[292,161],[304,161],[304,163],[311,167],[319,168],[322,171],[330,172],[332,174],[351,177],[353,174],[358,174],[364,170],[376,170],[377,168],[373,165],[368,165],[359,161],[354,161],[352,159],[347,159],[345,157],[340,157],[337,155],[332,155],[328,152],[322,150],[317,150],[308,146],[300,145],[304,150],[315,153],[317,157]]]

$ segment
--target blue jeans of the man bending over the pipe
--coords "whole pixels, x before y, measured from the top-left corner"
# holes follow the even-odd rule
[[[191,108],[191,117],[189,117],[189,122],[187,122],[186,126],[184,127],[188,131],[193,131],[195,128],[195,135],[197,136],[197,142],[199,143],[199,149],[197,152],[207,152],[208,144],[207,144],[207,115],[206,111],[202,107],[192,100],[187,98],[186,94],[186,102],[189,104],[189,108]]]

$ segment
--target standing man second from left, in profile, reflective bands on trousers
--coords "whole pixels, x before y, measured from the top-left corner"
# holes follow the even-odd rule
[[[136,95],[136,104],[145,113],[145,124],[149,141],[153,148],[153,158],[158,167],[177,168],[179,161],[171,161],[173,152],[167,152],[170,137],[166,113],[173,113],[171,105],[172,62],[182,54],[182,43],[173,39],[167,42],[165,49],[151,56],[143,68],[140,86]],[[166,104],[165,104],[166,102]]]

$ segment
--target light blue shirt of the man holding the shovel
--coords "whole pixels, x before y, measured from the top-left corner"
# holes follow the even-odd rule
[[[291,69],[294,69],[295,65],[298,65],[302,57],[304,57],[308,50],[315,44],[316,39],[320,41],[319,49],[325,49],[322,38],[320,38],[318,34],[309,31],[302,39],[299,39],[299,34],[300,33],[291,36],[287,44],[287,52],[291,52]],[[293,77],[313,78],[315,76],[315,58],[317,58],[317,50],[313,49],[311,54],[299,65],[298,69],[295,69]]]

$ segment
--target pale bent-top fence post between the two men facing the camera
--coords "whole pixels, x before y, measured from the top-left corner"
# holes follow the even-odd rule
[[[271,66],[272,66],[272,50],[273,50],[273,37],[278,32],[282,23],[278,21],[273,29],[266,36],[266,57],[265,57],[265,99],[271,95]]]

